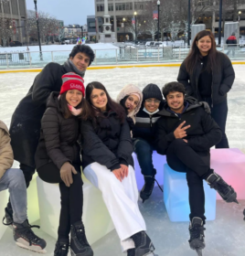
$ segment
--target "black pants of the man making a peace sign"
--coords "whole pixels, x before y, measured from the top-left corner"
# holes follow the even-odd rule
[[[212,173],[210,170],[210,155],[195,152],[182,139],[176,139],[166,151],[166,161],[176,172],[186,173],[189,187],[190,219],[199,217],[205,223],[203,178]]]

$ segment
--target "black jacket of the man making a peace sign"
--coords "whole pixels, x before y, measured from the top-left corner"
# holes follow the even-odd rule
[[[159,112],[162,116],[156,123],[155,147],[158,154],[165,155],[166,150],[176,137],[174,132],[180,123],[186,121],[185,126],[191,125],[186,130],[185,139],[188,144],[196,151],[204,155],[209,154],[209,149],[221,140],[222,133],[218,124],[205,112],[200,103],[189,104],[186,112],[179,117],[177,114],[168,112],[164,109]],[[188,157],[186,155],[186,157]]]

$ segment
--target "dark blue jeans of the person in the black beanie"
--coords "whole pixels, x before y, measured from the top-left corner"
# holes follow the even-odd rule
[[[133,139],[134,152],[137,155],[141,172],[144,176],[155,176],[156,170],[153,165],[154,145],[142,138]]]

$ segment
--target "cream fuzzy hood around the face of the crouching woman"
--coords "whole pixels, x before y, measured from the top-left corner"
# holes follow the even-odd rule
[[[143,101],[142,91],[137,86],[135,86],[133,84],[127,84],[122,88],[122,91],[119,92],[116,101],[118,103],[120,103],[120,101],[122,101],[122,99],[124,99],[125,96],[128,96],[132,93],[138,93],[140,96],[140,101],[139,101],[137,107],[134,109],[133,112],[129,112],[127,115],[128,117],[131,117],[133,119],[133,123],[135,123],[135,115],[137,112],[139,112],[139,110],[141,108],[142,101]]]

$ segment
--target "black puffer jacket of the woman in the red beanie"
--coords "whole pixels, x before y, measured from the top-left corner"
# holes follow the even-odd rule
[[[37,145],[35,161],[37,168],[53,162],[57,167],[69,162],[80,165],[79,118],[65,119],[60,112],[59,92],[52,92],[48,98],[47,110],[41,120],[41,134]]]

